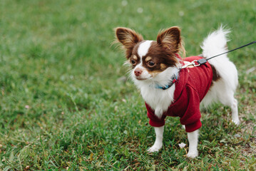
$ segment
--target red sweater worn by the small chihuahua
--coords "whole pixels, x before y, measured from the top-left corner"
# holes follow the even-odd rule
[[[192,62],[199,60],[200,56],[190,56],[183,61]],[[181,63],[183,63],[181,61]],[[185,125],[185,131],[190,133],[198,130],[202,123],[200,121],[200,101],[208,92],[213,79],[213,70],[207,62],[193,68],[183,68],[179,72],[179,79],[175,83],[174,100],[168,110],[161,118],[155,115],[153,109],[145,103],[148,110],[149,124],[153,127],[165,125],[166,116],[180,117],[180,123]]]

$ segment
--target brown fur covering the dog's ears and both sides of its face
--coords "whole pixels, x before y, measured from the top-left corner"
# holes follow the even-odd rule
[[[130,59],[130,63],[133,64],[133,68],[140,63],[140,57],[138,56],[138,47],[140,43],[143,43],[143,37],[131,30],[130,28],[116,28],[117,41],[123,44],[123,48],[126,49],[126,58]],[[147,69],[149,73],[160,73],[170,66],[177,66],[178,58],[175,53],[183,51],[183,43],[180,37],[180,28],[171,27],[165,31],[158,33],[157,41],[151,43],[148,53],[143,56],[143,67]],[[183,55],[185,54],[185,51]],[[149,64],[155,63],[154,66]]]

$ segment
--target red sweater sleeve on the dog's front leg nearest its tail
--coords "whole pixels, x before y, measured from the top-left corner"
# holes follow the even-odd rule
[[[185,125],[185,131],[190,133],[198,130],[202,126],[200,121],[200,98],[198,93],[191,86],[185,88],[183,96],[186,96],[183,98],[186,108],[184,114],[180,116],[180,123]]]

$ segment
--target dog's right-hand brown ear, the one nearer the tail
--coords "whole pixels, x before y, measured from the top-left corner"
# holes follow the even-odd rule
[[[177,26],[170,27],[158,33],[157,42],[163,48],[167,48],[173,53],[178,53],[182,46],[180,38],[180,28]]]

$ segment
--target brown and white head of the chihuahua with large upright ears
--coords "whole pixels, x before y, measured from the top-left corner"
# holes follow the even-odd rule
[[[160,31],[156,41],[144,41],[140,34],[123,27],[116,28],[116,38],[126,50],[131,74],[138,81],[154,79],[167,68],[176,67],[176,54],[184,49],[176,26]]]

